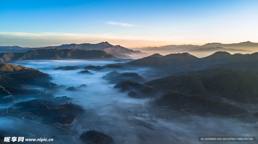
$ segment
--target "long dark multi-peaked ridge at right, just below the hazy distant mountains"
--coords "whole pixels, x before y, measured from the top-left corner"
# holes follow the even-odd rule
[[[258,53],[232,55],[228,52],[216,52],[203,58],[198,58],[189,53],[178,53],[163,57],[148,56],[130,61],[127,64],[172,69],[174,71],[198,70],[205,67],[229,67],[258,71]]]

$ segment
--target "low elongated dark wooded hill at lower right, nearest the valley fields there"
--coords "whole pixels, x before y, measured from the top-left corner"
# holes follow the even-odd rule
[[[160,99],[155,100],[154,104],[160,107],[166,106],[181,112],[213,113],[225,116],[247,113],[246,110],[237,106],[209,100],[204,97],[188,96],[179,92],[167,92]]]

